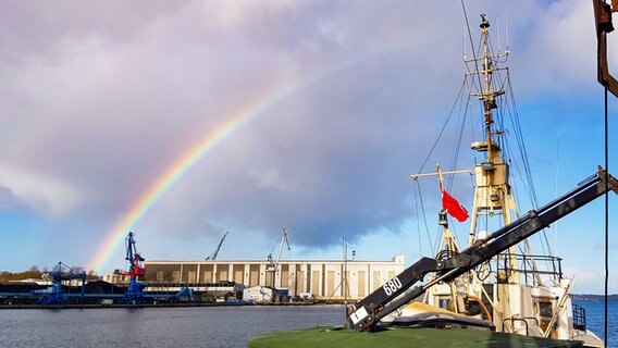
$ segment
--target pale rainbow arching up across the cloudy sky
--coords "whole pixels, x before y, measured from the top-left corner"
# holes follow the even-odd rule
[[[187,174],[187,172],[189,172],[198,162],[221,145],[233,133],[250,123],[257,116],[264,114],[264,112],[272,105],[285,100],[316,82],[357,65],[368,59],[382,55],[393,50],[401,49],[404,46],[408,46],[410,42],[395,42],[394,45],[382,47],[380,50],[373,50],[370,54],[357,55],[354,59],[344,61],[335,66],[314,70],[312,73],[297,78],[292,83],[271,89],[263,94],[261,98],[258,98],[257,101],[250,102],[240,111],[226,116],[226,122],[208,134],[206,138],[190,148],[183,157],[181,157],[181,159],[175,161],[172,166],[163,173],[163,175],[159,176],[154,185],[152,185],[148,191],[146,191],[146,194],[137,200],[133,208],[124,214],[123,219],[104,237],[103,243],[99,246],[88,263],[87,270],[95,270],[98,272],[102,271],[131,228],[135,226],[137,222],[139,222],[152,209],[152,207]]]

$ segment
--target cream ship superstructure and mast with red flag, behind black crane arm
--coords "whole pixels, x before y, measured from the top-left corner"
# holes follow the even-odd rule
[[[487,238],[490,226],[508,226],[521,219],[510,175],[511,163],[516,159],[510,154],[512,150],[508,151],[508,154],[503,150],[509,146],[504,139],[509,133],[503,128],[508,121],[505,119],[507,111],[514,111],[512,105],[500,107],[504,99],[511,96],[511,92],[505,90],[511,86],[506,73],[508,70],[504,66],[509,51],[492,51],[490,27],[485,15],[481,15],[479,54],[473,54],[470,59],[465,58],[468,65],[466,78],[474,82],[466,85],[477,87],[469,95],[478,100],[482,116],[482,122],[478,123],[482,125],[482,139],[470,146],[470,149],[478,153],[474,167],[442,171],[437,164],[435,173],[411,175],[413,179],[436,176],[438,181],[437,188],[442,195],[438,225],[442,228],[442,237],[435,253],[437,260],[446,261],[461,252],[449,228],[449,220],[470,220],[467,240],[467,247],[470,248]],[[517,113],[512,113],[509,119],[517,117]],[[516,125],[517,123],[511,124],[512,127]],[[518,129],[512,133],[519,134]],[[517,140],[521,139],[522,137],[517,137]],[[526,149],[526,146],[518,144],[517,148]],[[527,158],[526,153],[520,158]],[[529,173],[528,162],[521,162],[521,172]],[[467,174],[473,176],[474,183],[470,214],[450,196],[443,179],[445,175]],[[521,176],[527,178],[526,175]],[[533,192],[533,184],[528,184],[529,191]],[[534,209],[537,210],[537,207]],[[539,234],[543,233],[545,232]],[[544,249],[548,251],[549,247]],[[588,347],[604,347],[603,340],[586,330],[585,309],[571,301],[570,295],[577,276],[565,277],[563,260],[559,257],[533,253],[532,250],[533,246],[529,239],[512,245],[454,281],[433,285],[425,291],[421,301],[467,318],[487,321],[500,333],[581,340]],[[419,324],[418,318],[427,316],[431,309],[419,311],[417,307],[417,303],[405,307],[385,318],[383,322]]]

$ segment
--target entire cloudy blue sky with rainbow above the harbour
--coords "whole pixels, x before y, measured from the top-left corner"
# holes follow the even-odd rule
[[[466,1],[466,12],[474,42],[485,13],[508,45],[548,202],[604,163],[592,4]],[[282,227],[287,259],[341,259],[342,238],[362,260],[433,253],[437,184],[423,183],[423,217],[409,175],[457,98],[465,23],[459,1],[0,2],[0,270],[62,261],[107,274],[126,268],[129,231],[147,260],[206,259],[227,231],[219,259],[265,260]],[[423,171],[452,154],[441,144]],[[470,202],[469,185],[452,189]],[[576,293],[603,291],[603,208],[547,232]],[[453,228],[465,241],[466,223]],[[610,219],[614,270],[617,229]]]

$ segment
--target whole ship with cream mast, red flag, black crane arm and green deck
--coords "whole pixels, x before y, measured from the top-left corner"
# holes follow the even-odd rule
[[[442,171],[437,164],[435,173],[412,175],[437,177],[442,239],[436,253],[349,306],[343,327],[275,333],[250,340],[249,347],[605,346],[586,330],[584,309],[571,302],[576,278],[565,277],[557,256],[534,254],[530,238],[607,192],[618,194],[618,181],[598,166],[570,191],[519,212],[504,153],[507,132],[496,121],[509,84],[495,82],[508,51],[492,52],[485,15],[479,27],[479,54],[466,61],[477,87],[472,97],[481,105],[482,139],[471,145],[480,161],[471,170]],[[443,176],[461,173],[473,176],[470,213],[443,183]],[[452,219],[470,220],[466,247],[450,232]]]

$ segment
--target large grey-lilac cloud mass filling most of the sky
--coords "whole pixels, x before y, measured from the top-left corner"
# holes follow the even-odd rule
[[[506,13],[526,98],[589,79],[593,67],[572,69],[594,63],[585,5],[467,10],[474,36],[479,13],[503,30]],[[88,248],[188,149],[267,105],[134,226],[177,238],[150,256],[228,229],[271,240],[286,226],[306,250],[399,233],[413,217],[408,175],[465,73],[461,9],[424,1],[8,2],[0,18],[3,201],[66,216],[46,233],[88,226]]]

